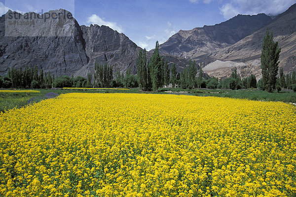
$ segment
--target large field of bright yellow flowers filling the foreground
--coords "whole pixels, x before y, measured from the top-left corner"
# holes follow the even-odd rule
[[[0,114],[0,196],[295,195],[286,103],[72,93]]]

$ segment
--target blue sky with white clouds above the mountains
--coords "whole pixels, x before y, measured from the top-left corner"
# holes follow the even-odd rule
[[[42,12],[64,8],[80,25],[107,25],[148,50],[179,30],[215,25],[237,14],[276,15],[296,0],[0,0],[7,9]]]

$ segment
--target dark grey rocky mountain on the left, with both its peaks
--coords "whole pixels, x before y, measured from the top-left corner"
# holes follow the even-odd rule
[[[141,48],[126,35],[106,26],[79,26],[74,18],[63,17],[69,13],[63,9],[48,13],[62,13],[63,20],[50,18],[47,24],[37,21],[33,28],[22,31],[22,27],[7,29],[6,26],[5,29],[5,17],[16,14],[24,19],[27,13],[21,15],[9,10],[0,17],[0,75],[6,74],[8,67],[37,65],[55,76],[87,76],[94,72],[95,62],[112,65],[114,72],[125,72],[131,68],[132,73],[136,73]],[[5,33],[19,36],[5,36]],[[151,52],[147,53],[148,58],[151,55]],[[175,63],[178,70],[187,64],[185,58],[173,55],[166,55],[166,59],[170,64]]]

